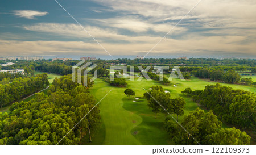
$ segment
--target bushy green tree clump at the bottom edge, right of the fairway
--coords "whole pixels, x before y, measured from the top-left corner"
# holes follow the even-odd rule
[[[187,132],[180,126],[184,127]],[[222,128],[222,122],[212,111],[197,108],[184,116],[179,124],[167,117],[164,126],[176,144],[242,145],[250,144],[250,136],[236,128]]]

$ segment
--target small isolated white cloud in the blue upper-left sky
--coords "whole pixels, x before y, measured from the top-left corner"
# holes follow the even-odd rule
[[[14,10],[14,15],[27,19],[36,19],[35,16],[45,16],[48,12],[40,12],[34,10]]]

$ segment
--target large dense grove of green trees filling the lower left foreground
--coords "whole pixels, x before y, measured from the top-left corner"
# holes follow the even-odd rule
[[[0,144],[92,141],[100,123],[100,110],[95,104],[93,95],[72,82],[71,75],[55,79],[47,94],[38,93],[29,102],[14,103],[10,114],[0,112]]]

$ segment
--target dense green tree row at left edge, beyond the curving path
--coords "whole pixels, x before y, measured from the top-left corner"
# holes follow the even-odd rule
[[[4,78],[5,84],[0,84],[0,106],[13,103],[15,100],[22,99],[43,89],[43,87],[49,85],[48,76],[46,73],[38,74],[35,77],[27,78]]]

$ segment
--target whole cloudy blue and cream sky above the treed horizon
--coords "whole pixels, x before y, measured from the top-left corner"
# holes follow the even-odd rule
[[[256,58],[255,0],[56,1],[1,0],[0,57]]]

